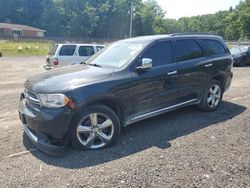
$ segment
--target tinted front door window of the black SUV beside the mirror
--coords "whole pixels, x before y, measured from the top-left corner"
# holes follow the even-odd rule
[[[153,60],[153,67],[172,63],[172,45],[171,42],[159,42],[151,46],[143,55],[143,58]]]

